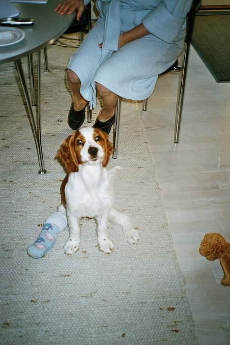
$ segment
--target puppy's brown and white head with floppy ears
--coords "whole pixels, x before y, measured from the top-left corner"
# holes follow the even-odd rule
[[[66,173],[78,172],[79,164],[102,163],[106,167],[112,153],[108,134],[93,127],[82,127],[60,146],[57,158]]]

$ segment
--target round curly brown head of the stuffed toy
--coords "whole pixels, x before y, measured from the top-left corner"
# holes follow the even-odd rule
[[[200,253],[208,260],[219,259],[226,249],[226,243],[220,233],[207,233],[201,241]]]

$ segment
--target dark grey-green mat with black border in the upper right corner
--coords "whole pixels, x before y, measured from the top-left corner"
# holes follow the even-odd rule
[[[192,45],[217,83],[230,82],[230,15],[196,16]]]

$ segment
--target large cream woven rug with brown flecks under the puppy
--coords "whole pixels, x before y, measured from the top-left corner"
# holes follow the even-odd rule
[[[54,157],[71,133],[64,69],[72,52],[49,47],[50,72],[42,73],[43,176],[14,65],[0,66],[0,344],[195,345],[184,281],[136,103],[122,102],[118,158],[111,159],[110,167],[122,168],[115,176],[115,206],[130,215],[139,243],[126,243],[121,229],[111,225],[115,250],[105,255],[98,250],[94,220],[83,219],[81,246],[72,257],[63,252],[68,229],[43,259],[27,255],[60,202],[65,173]]]

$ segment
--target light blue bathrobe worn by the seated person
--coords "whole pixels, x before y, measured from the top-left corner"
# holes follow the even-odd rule
[[[91,109],[96,106],[96,83],[127,99],[150,96],[158,75],[182,52],[191,4],[192,0],[97,1],[100,17],[68,64],[80,78],[80,92]],[[117,49],[119,34],[141,23],[150,33]]]

